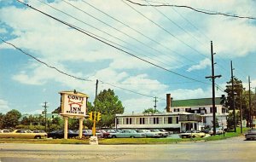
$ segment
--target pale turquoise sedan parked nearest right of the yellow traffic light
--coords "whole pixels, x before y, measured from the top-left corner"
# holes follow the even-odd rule
[[[137,133],[136,130],[119,130],[110,133],[109,136],[112,138],[145,138],[145,133]]]

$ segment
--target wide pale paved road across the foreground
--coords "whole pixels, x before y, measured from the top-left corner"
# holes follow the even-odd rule
[[[252,161],[256,141],[234,137],[217,142],[162,145],[0,144],[0,161]]]

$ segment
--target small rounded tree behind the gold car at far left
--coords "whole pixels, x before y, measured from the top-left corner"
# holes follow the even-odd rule
[[[4,128],[15,128],[19,124],[19,119],[21,113],[18,110],[11,110],[3,117],[3,127]]]

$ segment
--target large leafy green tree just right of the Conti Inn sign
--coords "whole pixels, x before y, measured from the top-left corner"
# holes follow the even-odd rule
[[[125,107],[119,101],[119,97],[114,94],[113,90],[103,90],[97,95],[96,105],[93,107],[90,102],[88,103],[88,112],[102,113],[102,119],[98,122],[99,127],[111,127],[114,124],[116,113],[124,113]],[[90,124],[90,123],[88,123]]]

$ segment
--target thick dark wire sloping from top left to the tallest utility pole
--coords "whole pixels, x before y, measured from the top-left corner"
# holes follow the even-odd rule
[[[20,2],[20,0],[17,0],[17,1]],[[178,73],[178,72],[173,72],[172,70],[166,69],[165,67],[160,67],[160,66],[157,65],[157,64],[154,64],[154,63],[152,63],[152,62],[150,62],[150,61],[147,61],[147,60],[145,60],[145,59],[143,59],[143,58],[141,58],[141,57],[139,57],[139,56],[137,56],[137,55],[131,54],[130,52],[128,52],[128,51],[126,51],[126,50],[124,50],[124,49],[120,49],[119,47],[116,47],[116,46],[114,46],[114,45],[111,44],[111,43],[108,43],[108,42],[106,42],[106,41],[103,41],[103,40],[100,39],[100,38],[96,38],[95,36],[91,35],[90,33],[84,32],[84,31],[80,30],[80,29],[79,29],[78,27],[76,27],[76,26],[73,26],[73,25],[71,25],[71,24],[68,24],[67,22],[65,22],[65,21],[63,21],[63,20],[59,20],[59,19],[55,18],[54,16],[49,15],[49,14],[46,14],[46,13],[44,13],[43,11],[41,11],[41,10],[39,10],[39,9],[35,9],[35,8],[33,8],[31,5],[29,5],[29,4],[26,4],[26,3],[23,3],[23,2],[20,2],[20,3],[26,5],[27,7],[31,8],[31,9],[33,9],[33,10],[35,10],[35,11],[38,11],[38,12],[41,13],[41,14],[44,14],[44,15],[48,16],[49,18],[51,18],[51,19],[53,19],[53,20],[59,21],[59,22],[61,22],[62,24],[66,25],[66,26],[70,26],[70,27],[72,27],[73,29],[75,29],[75,30],[77,30],[77,31],[79,31],[79,32],[84,33],[85,35],[89,36],[90,38],[94,38],[94,39],[96,39],[97,41],[102,42],[102,43],[105,43],[105,44],[107,44],[108,46],[113,47],[114,49],[118,49],[119,51],[122,51],[122,52],[124,52],[124,53],[127,54],[127,55],[131,55],[131,56],[137,58],[137,59],[140,60],[140,61],[144,61],[144,62],[146,62],[146,63],[148,63],[148,64],[150,64],[150,65],[152,65],[152,66],[154,66],[154,67],[158,67],[158,68],[160,68],[160,69],[162,69],[162,70],[165,70],[166,72],[171,72],[171,73],[173,73],[173,74],[176,74],[177,76],[180,76],[180,77],[183,77],[183,78],[187,78],[187,79],[189,79],[189,80],[194,80],[195,82],[199,82],[199,83],[201,83],[201,84],[209,84],[209,83],[203,82],[203,81],[201,81],[201,80],[197,80],[197,79],[195,79],[195,78],[189,78],[189,77],[187,77],[187,76],[185,76],[185,75],[183,75],[183,74],[180,74],[180,73]]]

